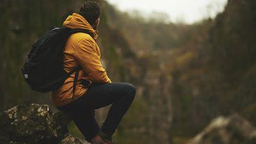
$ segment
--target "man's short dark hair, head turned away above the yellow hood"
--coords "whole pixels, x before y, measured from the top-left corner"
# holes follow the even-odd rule
[[[92,25],[100,17],[100,3],[85,1],[79,10],[79,15],[82,15]]]

